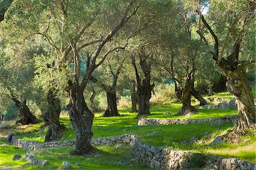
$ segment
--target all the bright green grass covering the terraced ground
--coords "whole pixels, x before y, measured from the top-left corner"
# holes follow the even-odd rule
[[[255,94],[255,89],[254,89]],[[231,96],[230,94],[223,94],[226,97]],[[222,97],[222,93],[216,97]],[[180,104],[170,104],[170,105],[152,105],[150,118],[160,118],[166,119],[171,118],[172,114],[175,114],[179,109]],[[166,111],[171,114],[164,115]],[[240,144],[220,144],[218,146],[209,147],[208,143],[196,143],[196,144],[180,144],[183,140],[189,140],[192,136],[196,138],[201,138],[209,133],[213,134],[213,138],[217,134],[221,134],[226,130],[230,130],[233,127],[232,123],[225,123],[223,125],[205,125],[205,124],[192,124],[192,125],[168,125],[168,126],[137,126],[137,119],[135,119],[136,113],[129,113],[128,107],[119,108],[119,113],[122,117],[114,118],[100,118],[101,113],[97,113],[94,118],[93,123],[93,138],[98,138],[100,136],[116,136],[121,134],[139,134],[141,135],[141,140],[144,142],[154,145],[154,146],[164,146],[173,148],[176,150],[187,150],[195,152],[209,153],[217,156],[226,157],[238,157],[242,160],[255,161],[255,147],[254,136],[245,136],[247,138],[246,143]],[[237,114],[237,110],[199,110],[198,115],[193,115],[190,117],[192,119],[201,118],[217,118],[224,115]],[[184,117],[177,117],[182,118]],[[74,139],[75,135],[73,133],[71,124],[69,123],[69,118],[60,118],[61,123],[63,123],[67,130],[64,132],[64,138],[62,140]],[[38,130],[43,123],[28,126],[18,126],[16,131],[18,132],[29,132],[34,131],[30,134],[20,135],[19,138],[24,140],[35,140],[38,142],[43,142],[44,135],[47,129],[42,128]],[[0,132],[1,136],[1,132]],[[213,140],[212,138],[212,140]],[[130,160],[129,157],[132,154],[129,152],[130,148],[128,146],[123,146],[121,148],[115,148],[114,146],[98,146],[96,147],[98,152],[100,152],[100,157],[92,156],[69,156],[69,151],[72,148],[61,148],[61,149],[51,149],[51,150],[40,150],[34,152],[37,154],[39,160],[48,159],[50,165],[47,166],[49,169],[56,169],[61,166],[62,161],[66,160],[70,163],[79,163],[86,167],[86,169],[147,169],[144,166],[133,164],[131,167],[129,165],[122,165],[119,163],[120,159]],[[24,164],[25,160],[12,161],[11,158],[15,154],[25,154],[25,150],[20,148],[15,148],[13,146],[6,146],[0,142],[0,157],[5,157],[0,159],[0,167],[11,164],[10,167],[20,167]],[[10,154],[11,153],[11,154]],[[74,166],[75,168],[78,168]],[[34,169],[33,166],[27,166],[26,169]]]

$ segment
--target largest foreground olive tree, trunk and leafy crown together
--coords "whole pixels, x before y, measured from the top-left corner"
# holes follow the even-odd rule
[[[85,103],[84,89],[109,53],[127,46],[133,35],[130,31],[125,44],[115,45],[111,41],[118,37],[140,6],[136,1],[99,2],[18,1],[9,10],[11,18],[7,21],[8,26],[19,29],[20,34],[43,37],[55,52],[55,64],[60,71],[68,70],[73,63],[72,77],[65,78],[68,85],[64,89],[68,92],[69,117],[76,134],[73,155],[93,150],[90,140],[94,114]],[[83,54],[86,54],[86,72],[81,75]]]

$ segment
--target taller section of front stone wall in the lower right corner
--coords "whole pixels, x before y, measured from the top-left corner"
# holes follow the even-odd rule
[[[136,143],[134,152],[138,162],[157,169],[256,169],[255,163],[250,161],[170,150],[164,147],[148,146],[143,142]]]

